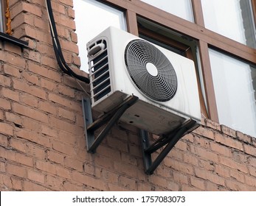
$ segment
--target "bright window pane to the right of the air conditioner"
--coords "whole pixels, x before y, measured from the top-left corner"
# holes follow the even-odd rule
[[[256,137],[256,67],[210,49],[221,124]]]

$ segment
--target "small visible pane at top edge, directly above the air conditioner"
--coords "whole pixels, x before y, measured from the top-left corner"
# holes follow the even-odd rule
[[[161,10],[177,15],[187,21],[194,21],[191,0],[141,0]]]

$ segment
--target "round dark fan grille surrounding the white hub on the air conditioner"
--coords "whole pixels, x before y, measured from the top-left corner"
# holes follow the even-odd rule
[[[148,72],[148,63],[156,67],[156,76]],[[137,88],[146,96],[166,102],[175,95],[178,82],[173,65],[151,43],[131,40],[125,48],[125,65]]]

